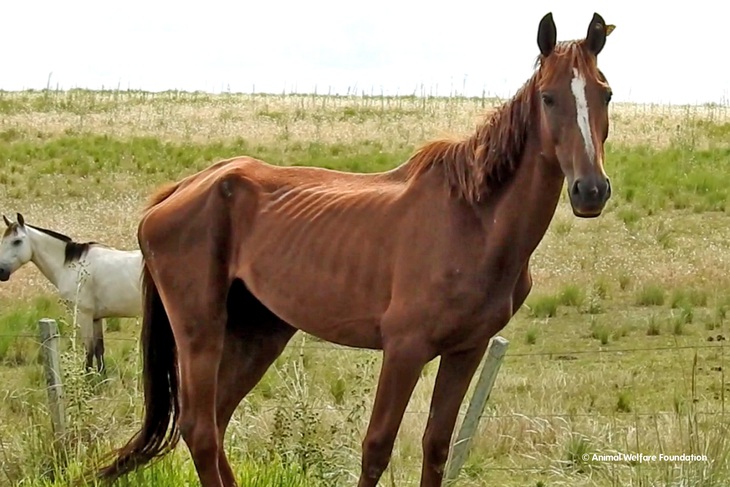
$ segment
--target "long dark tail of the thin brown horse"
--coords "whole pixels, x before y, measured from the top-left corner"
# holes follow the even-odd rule
[[[98,476],[107,480],[164,456],[180,439],[177,348],[170,320],[146,263],[142,270],[142,289],[144,422],[126,445],[111,453],[111,462],[99,470]]]

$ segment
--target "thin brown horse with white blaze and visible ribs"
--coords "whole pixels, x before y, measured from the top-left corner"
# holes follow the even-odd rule
[[[116,478],[187,444],[204,487],[235,485],[234,409],[302,330],[380,349],[358,485],[386,469],[423,366],[440,356],[422,486],[440,486],[459,406],[490,337],[532,286],[529,261],[564,180],[575,215],[601,214],[611,90],[607,28],[556,43],[540,22],[536,72],[470,137],[387,172],[218,162],[160,190],[139,225],[145,417],[100,472]]]

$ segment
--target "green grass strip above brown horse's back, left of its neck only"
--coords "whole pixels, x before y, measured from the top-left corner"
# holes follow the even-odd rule
[[[1,136],[2,134],[0,134]],[[138,191],[144,175],[148,184],[190,174],[223,158],[248,154],[280,165],[315,165],[358,172],[389,169],[408,156],[408,149],[383,153],[382,145],[319,142],[262,146],[238,138],[228,142],[185,144],[152,137],[121,140],[106,135],[22,138],[0,145],[0,158],[11,161],[0,184],[10,198],[84,198],[79,179],[94,182],[101,195]],[[104,179],[102,180],[102,175]],[[108,178],[108,179],[107,179]]]

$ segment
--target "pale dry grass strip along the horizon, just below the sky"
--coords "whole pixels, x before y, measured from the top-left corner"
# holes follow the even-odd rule
[[[90,132],[202,143],[244,137],[260,144],[281,143],[284,138],[324,144],[369,140],[401,146],[467,133],[501,102],[294,94],[0,93],[0,106],[10,108],[0,130],[49,135]],[[730,107],[614,104],[611,123],[614,144],[663,148],[680,136],[702,147],[709,142],[702,126],[730,123]]]

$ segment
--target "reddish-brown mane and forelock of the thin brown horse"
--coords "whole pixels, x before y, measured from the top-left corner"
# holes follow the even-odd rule
[[[562,63],[577,66],[590,76],[603,76],[581,41],[559,42],[550,62],[538,56],[533,75],[507,102],[489,114],[474,133],[461,140],[428,142],[406,162],[407,177],[417,178],[438,166],[452,190],[470,204],[501,188],[516,172],[533,124],[540,84],[559,71]],[[604,78],[605,80],[605,78]],[[605,81],[604,81],[605,83]]]

